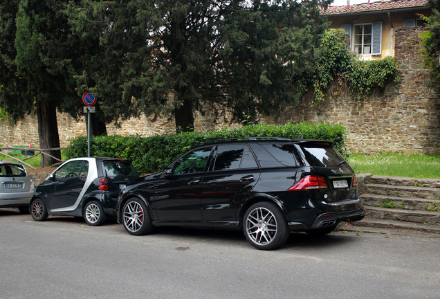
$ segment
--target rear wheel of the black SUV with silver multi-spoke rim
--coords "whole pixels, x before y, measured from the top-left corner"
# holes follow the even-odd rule
[[[266,201],[248,208],[244,215],[243,231],[248,242],[262,250],[282,246],[289,235],[282,211],[275,204]]]

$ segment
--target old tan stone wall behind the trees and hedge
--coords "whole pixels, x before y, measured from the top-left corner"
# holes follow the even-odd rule
[[[338,123],[347,127],[347,147],[351,152],[404,152],[440,154],[440,84],[427,69],[421,68],[419,34],[423,28],[396,28],[395,57],[402,71],[401,82],[390,84],[385,91],[354,100],[350,96],[327,100],[317,107],[306,103],[283,107],[282,113],[262,118],[271,124]],[[201,116],[196,113],[196,130],[230,126],[227,116]],[[86,135],[84,118],[78,122],[66,114],[58,115],[59,138],[62,146],[68,138]],[[152,136],[174,130],[174,120],[143,116],[128,120],[120,127],[108,125],[109,135]],[[37,118],[29,116],[10,126],[0,121],[0,145],[38,145]]]

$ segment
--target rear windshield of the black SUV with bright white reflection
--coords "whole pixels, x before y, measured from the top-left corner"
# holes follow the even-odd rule
[[[342,155],[331,145],[307,144],[301,148],[311,166],[337,167],[345,162]]]

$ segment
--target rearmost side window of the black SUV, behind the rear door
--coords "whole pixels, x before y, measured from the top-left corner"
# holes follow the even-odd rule
[[[291,143],[263,143],[251,146],[263,168],[304,165]]]

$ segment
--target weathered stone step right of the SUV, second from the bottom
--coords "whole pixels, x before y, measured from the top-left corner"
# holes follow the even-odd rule
[[[365,217],[440,226],[440,212],[423,210],[398,210],[392,208],[376,208],[373,206],[365,206]]]

